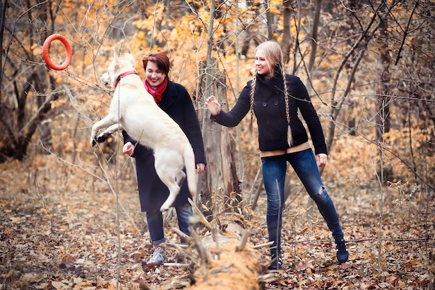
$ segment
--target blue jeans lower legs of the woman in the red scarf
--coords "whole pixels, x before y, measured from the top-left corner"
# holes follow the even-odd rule
[[[181,232],[190,236],[190,223],[188,219],[192,216],[192,207],[187,203],[181,207],[175,207],[175,211],[177,211],[177,219]],[[147,211],[147,224],[149,236],[151,236],[151,243],[153,245],[164,243],[166,239],[165,232],[163,232],[163,214],[160,209]]]

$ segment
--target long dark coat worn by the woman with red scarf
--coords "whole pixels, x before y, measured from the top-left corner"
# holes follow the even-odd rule
[[[179,83],[168,81],[166,90],[163,92],[160,107],[179,124],[184,134],[188,137],[195,153],[195,164],[206,164],[201,129],[199,128],[195,108],[186,88]],[[136,140],[133,140],[126,131],[122,131],[122,135],[124,136],[124,144],[127,142],[136,144]],[[154,169],[152,150],[138,144],[132,157],[136,158],[140,209],[142,211],[160,209],[169,195],[169,190],[161,182]],[[186,204],[188,198],[190,198],[190,193],[185,179],[177,200],[175,200],[173,205],[181,206]]]

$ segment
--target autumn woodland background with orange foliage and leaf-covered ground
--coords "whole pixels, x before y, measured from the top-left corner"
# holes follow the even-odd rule
[[[249,118],[214,126],[204,98],[214,93],[231,108],[254,77],[256,45],[270,39],[318,110],[329,148],[322,177],[350,261],[336,264],[326,225],[289,168],[286,266],[262,270],[258,283],[434,289],[433,1],[3,0],[0,25],[0,289],[188,288],[188,269],[142,263],[149,237],[122,138],[89,145],[110,103],[99,75],[113,47],[136,56],[141,77],[142,56],[167,51],[170,78],[190,92],[204,133],[208,168],[196,202],[209,219],[242,214],[250,241],[265,243],[256,131]],[[72,45],[64,71],[42,60],[53,33]],[[52,42],[50,54],[62,63],[65,48]],[[171,213],[167,225],[177,241]],[[267,264],[267,250],[259,253]]]

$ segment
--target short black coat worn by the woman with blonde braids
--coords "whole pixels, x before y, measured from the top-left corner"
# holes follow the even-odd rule
[[[327,154],[322,126],[304,83],[297,76],[291,74],[286,74],[286,81],[289,95],[290,128],[293,138],[292,146],[301,145],[308,141],[306,129],[297,114],[299,110],[310,131],[315,154]],[[218,115],[211,116],[212,120],[227,127],[236,126],[249,112],[251,83],[252,81],[247,82],[231,111],[228,113],[220,111]],[[281,73],[277,72],[270,79],[264,79],[263,76],[257,75],[254,113],[258,124],[258,146],[260,150],[288,149],[288,123]]]

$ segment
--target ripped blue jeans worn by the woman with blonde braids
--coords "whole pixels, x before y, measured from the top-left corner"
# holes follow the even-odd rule
[[[261,159],[263,164],[263,184],[268,199],[266,223],[268,225],[269,241],[274,242],[270,245],[273,256],[281,255],[282,211],[284,209],[284,180],[286,178],[287,162],[293,167],[297,177],[299,177],[306,191],[317,205],[320,214],[325,218],[334,239],[343,238],[343,231],[334,203],[320,178],[313,150],[263,157]]]

